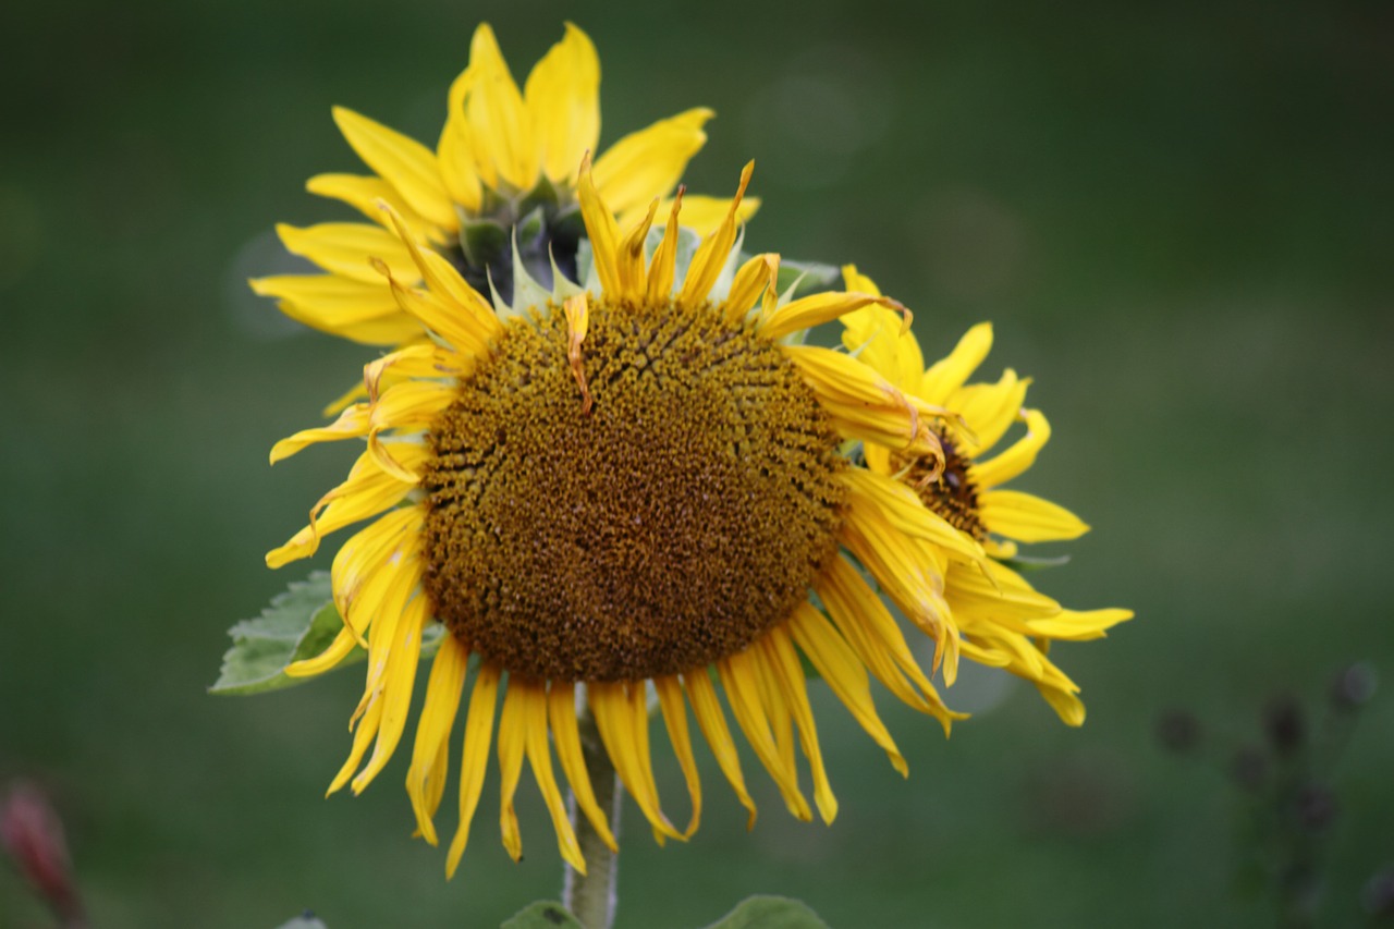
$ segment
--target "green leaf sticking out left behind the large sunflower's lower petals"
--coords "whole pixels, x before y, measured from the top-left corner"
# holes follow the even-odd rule
[[[312,658],[335,640],[343,628],[339,610],[329,590],[329,575],[316,571],[277,594],[256,619],[243,619],[227,635],[233,647],[223,656],[223,668],[209,693],[244,696],[265,693],[304,683],[311,678],[293,678],[286,667]],[[441,624],[431,624],[421,635],[421,657],[435,654],[441,644]],[[368,654],[354,646],[335,670],[358,664]]]

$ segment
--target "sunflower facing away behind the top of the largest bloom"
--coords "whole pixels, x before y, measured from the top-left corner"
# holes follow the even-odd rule
[[[435,151],[344,107],[335,121],[372,174],[319,174],[314,194],[340,199],[371,223],[277,226],[286,248],[326,273],[262,278],[252,287],[276,297],[305,325],[364,345],[397,346],[421,328],[393,299],[369,259],[386,262],[403,286],[424,279],[410,246],[434,252],[485,294],[512,300],[519,268],[551,283],[553,266],[576,276],[583,234],[576,202],[576,166],[599,138],[599,60],[584,32],[567,24],[560,42],[537,63],[523,89],[481,25],[470,64],[449,92],[445,128]],[[712,117],[696,107],[619,139],[595,160],[595,186],[629,226],[661,198],[659,222],[687,160],[707,139]],[[386,223],[376,204],[392,205],[407,232]],[[757,202],[742,204],[742,218]],[[729,202],[687,197],[684,225],[707,232]],[[346,398],[357,399],[361,393]],[[337,413],[344,403],[330,409]]]

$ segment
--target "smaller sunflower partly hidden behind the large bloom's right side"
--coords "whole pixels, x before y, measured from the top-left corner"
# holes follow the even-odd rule
[[[880,294],[855,265],[843,268],[843,279],[852,290]],[[887,308],[868,304],[843,315],[842,325],[842,342],[852,354],[940,413],[930,424],[938,439],[935,455],[870,441],[864,444],[866,467],[913,490],[930,511],[991,557],[984,562],[944,551],[931,569],[941,579],[941,605],[958,633],[945,650],[945,682],[953,683],[962,654],[1032,681],[1065,723],[1083,724],[1079,686],[1048,658],[1050,644],[1098,639],[1133,614],[1065,610],[1009,566],[1019,555],[1018,543],[1061,541],[1089,531],[1064,506],[1002,487],[1030,469],[1050,439],[1046,416],[1023,406],[1030,381],[1008,368],[995,384],[967,384],[993,347],[993,326],[986,322],[969,329],[948,357],[928,368],[913,333],[902,333],[901,317]],[[1025,427],[1025,435],[988,456],[1016,424]]]

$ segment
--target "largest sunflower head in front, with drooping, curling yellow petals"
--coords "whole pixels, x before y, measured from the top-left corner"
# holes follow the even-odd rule
[[[330,791],[361,791],[393,755],[424,633],[442,629],[407,791],[434,844],[468,690],[449,872],[493,745],[510,854],[520,854],[513,796],[526,759],[562,855],[584,870],[553,750],[579,809],[613,847],[581,760],[579,711],[659,840],[686,837],[700,820],[693,718],[753,819],[728,711],[789,810],[810,819],[797,741],[813,806],[831,822],[836,801],[804,660],[902,771],[868,677],[945,730],[958,718],[875,587],[952,649],[941,561],[952,552],[955,564],[981,564],[983,548],[909,487],[843,453],[860,441],[934,473],[942,432],[927,405],[870,365],[799,338],[863,307],[896,319],[903,308],[855,289],[792,299],[776,287],[778,255],[739,262],[749,166],[690,257],[679,248],[680,191],[662,229],[658,198],[626,227],[597,169],[585,159],[577,176],[590,243],[580,283],[559,273],[545,287],[521,269],[512,303],[485,299],[382,204],[410,268],[388,257],[372,266],[415,331],[364,368],[364,400],[272,451],[277,460],[316,442],[365,442],[347,480],[268,564],[304,558],[328,533],[371,520],[333,559],[343,630],[290,670],[328,671],[355,643],[368,651],[353,749]],[[684,829],[659,805],[651,696],[689,787]]]

